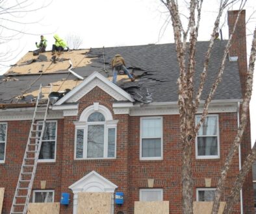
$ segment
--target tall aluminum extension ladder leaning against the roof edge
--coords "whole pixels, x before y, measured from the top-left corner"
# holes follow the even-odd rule
[[[29,139],[27,140],[27,147],[21,165],[21,171],[19,172],[19,180],[12,201],[10,214],[27,213],[50,103],[49,97],[44,98],[44,96],[51,93],[51,89],[52,85],[42,86],[42,84],[39,88]],[[38,121],[40,121],[40,123],[38,123]]]

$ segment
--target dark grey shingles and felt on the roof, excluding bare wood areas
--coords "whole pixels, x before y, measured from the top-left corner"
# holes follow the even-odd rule
[[[205,83],[205,89],[201,99],[205,99],[211,88],[214,77],[218,72],[220,60],[225,48],[226,41],[216,41],[212,50],[211,60],[209,62],[209,73]],[[208,42],[198,42],[196,51],[196,89],[199,84],[199,75],[203,70],[204,55],[208,47]],[[97,57],[92,60],[92,64],[85,67],[73,69],[77,74],[88,77],[94,71],[98,71],[105,77],[112,75],[110,69],[110,60],[115,54],[122,54],[125,58],[126,67],[133,71],[135,82],[118,82],[118,86],[131,93],[137,101],[142,97],[151,97],[152,102],[170,102],[177,101],[177,78],[179,76],[179,67],[175,44],[160,45],[139,45],[128,47],[106,47],[104,49],[91,49],[88,57]],[[105,66],[104,66],[105,62]],[[106,73],[105,70],[109,71]],[[27,89],[36,76],[27,75],[18,78],[19,81],[3,82],[0,77],[0,103],[13,102],[13,97],[19,95],[21,90]],[[38,89],[39,85],[47,85],[50,82],[57,82],[63,78],[75,79],[73,75],[68,74],[49,74],[42,75],[29,91]],[[222,82],[219,84],[214,99],[241,99],[241,88],[238,74],[237,62],[226,60]],[[144,98],[142,99],[144,100]],[[22,102],[22,101],[19,101]],[[23,101],[28,102],[28,101]]]

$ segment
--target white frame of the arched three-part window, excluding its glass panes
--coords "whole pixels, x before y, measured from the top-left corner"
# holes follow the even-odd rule
[[[99,112],[102,113],[105,117],[105,121],[103,122],[87,122],[88,117],[94,113]],[[116,159],[116,143],[117,143],[117,124],[118,120],[113,120],[112,113],[110,110],[100,105],[98,102],[94,102],[92,106],[88,106],[83,110],[79,121],[74,121],[75,124],[75,149],[74,149],[74,160],[102,160],[102,159]],[[103,149],[103,157],[102,158],[87,158],[87,131],[88,125],[104,125],[104,149]],[[108,147],[109,147],[109,128],[114,128],[115,130],[115,148],[114,148],[114,157],[108,158]],[[83,158],[77,158],[77,130],[84,130],[84,139],[83,139]]]

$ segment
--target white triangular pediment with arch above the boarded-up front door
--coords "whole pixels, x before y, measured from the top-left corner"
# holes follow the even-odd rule
[[[80,192],[110,192],[114,193],[114,190],[118,186],[104,178],[96,171],[92,171],[86,174],[83,178],[70,185],[70,189],[73,193]]]

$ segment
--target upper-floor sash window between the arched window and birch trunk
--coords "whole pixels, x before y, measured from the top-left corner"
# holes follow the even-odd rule
[[[162,117],[140,119],[140,160],[162,160]]]

